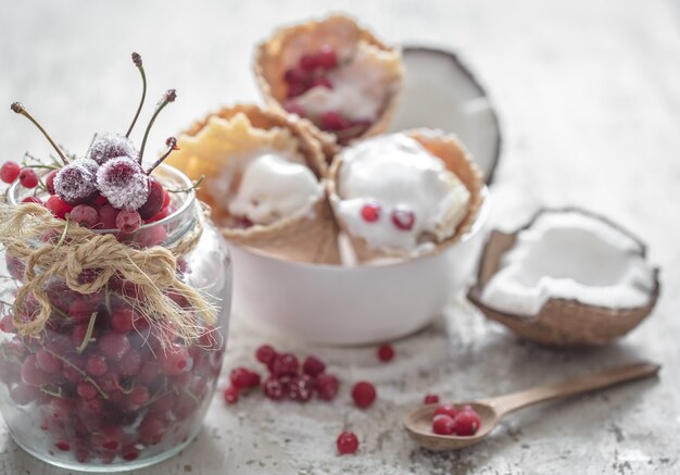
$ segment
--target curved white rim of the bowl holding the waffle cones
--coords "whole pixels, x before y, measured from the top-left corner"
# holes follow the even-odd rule
[[[356,272],[365,272],[365,273],[382,272],[383,270],[393,270],[398,267],[404,267],[404,266],[413,265],[415,262],[420,262],[420,261],[425,261],[428,259],[438,258],[442,254],[445,254],[450,250],[455,249],[457,246],[462,245],[463,242],[467,242],[468,240],[470,240],[475,235],[481,232],[484,224],[489,220],[489,215],[491,214],[491,203],[490,203],[489,195],[490,195],[489,187],[487,185],[482,185],[481,187],[482,202],[481,202],[481,207],[479,208],[479,212],[477,213],[477,217],[473,222],[473,225],[470,226],[470,228],[467,232],[465,232],[456,242],[453,242],[450,246],[446,246],[445,249],[442,249],[440,251],[430,252],[430,253],[426,253],[423,255],[416,255],[414,258],[405,259],[405,260],[394,262],[394,263],[386,263],[386,264],[379,264],[379,265],[339,265],[339,264],[317,264],[317,263],[312,263],[312,262],[298,262],[298,261],[289,261],[287,259],[281,259],[281,258],[268,254],[266,252],[260,251],[257,249],[245,248],[242,246],[234,245],[229,241],[227,241],[227,243],[229,245],[229,248],[238,248],[239,252],[255,255],[257,258],[262,258],[267,261],[273,261],[284,266],[288,265],[289,267],[297,267],[297,268],[301,268],[305,271],[322,271],[322,272],[336,273],[336,274],[356,273]]]

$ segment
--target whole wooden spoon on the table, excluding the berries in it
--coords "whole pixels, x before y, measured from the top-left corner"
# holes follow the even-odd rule
[[[423,447],[436,450],[457,450],[481,441],[506,414],[537,402],[582,392],[602,389],[620,383],[654,376],[658,373],[658,364],[642,362],[619,366],[587,376],[565,379],[545,386],[513,392],[479,401],[461,402],[471,405],[479,417],[481,426],[474,436],[440,436],[432,433],[432,414],[438,404],[427,404],[412,411],[404,418],[406,432]],[[458,404],[456,404],[458,405]]]

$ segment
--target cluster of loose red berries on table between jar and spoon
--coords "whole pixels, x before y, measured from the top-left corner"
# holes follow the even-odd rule
[[[231,371],[231,385],[224,391],[225,401],[232,404],[239,396],[249,389],[262,387],[265,397],[274,401],[290,399],[308,402],[315,395],[317,399],[330,401],[338,395],[340,380],[326,372],[326,364],[314,355],[308,355],[300,364],[293,353],[278,352],[269,345],[257,348],[255,358],[268,371],[266,378],[247,367]]]

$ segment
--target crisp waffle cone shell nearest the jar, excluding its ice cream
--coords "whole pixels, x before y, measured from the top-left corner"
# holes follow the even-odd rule
[[[298,152],[323,183],[328,166],[319,145],[304,132],[303,124],[291,121],[276,110],[250,104],[224,108],[194,123],[182,135],[196,136],[205,127],[212,116],[231,120],[239,113],[244,114],[254,128],[282,127],[289,129],[298,140]],[[198,179],[205,172],[192,166],[192,161],[187,159],[190,158],[182,157],[181,151],[179,151],[171,154],[166,162],[187,173],[191,179]],[[225,165],[228,166],[229,162],[221,163],[218,167],[222,168]],[[216,170],[210,172],[214,173]],[[206,175],[205,179],[209,180],[210,175]],[[228,212],[221,205],[222,203],[216,202],[210,193],[199,189],[198,196],[212,208],[215,222],[219,223],[228,216]],[[338,226],[325,196],[316,201],[312,209],[282,217],[268,225],[253,225],[248,228],[222,226],[219,230],[225,239],[231,243],[275,254],[287,260],[324,264],[340,262],[337,245]]]

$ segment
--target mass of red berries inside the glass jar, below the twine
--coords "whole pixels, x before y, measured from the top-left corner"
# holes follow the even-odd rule
[[[52,280],[47,295],[54,314],[40,336],[18,335],[8,309],[0,320],[0,380],[22,424],[83,463],[151,457],[186,440],[222,368],[214,333],[167,346],[130,304],[135,289],[115,278],[89,296]],[[22,314],[37,309],[29,299]]]

